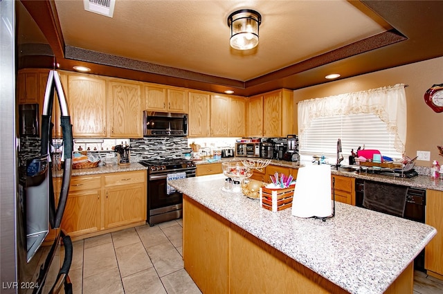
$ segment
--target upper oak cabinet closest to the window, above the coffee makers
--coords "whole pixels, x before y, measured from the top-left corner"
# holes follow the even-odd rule
[[[293,134],[293,91],[282,89],[263,95],[263,136]]]

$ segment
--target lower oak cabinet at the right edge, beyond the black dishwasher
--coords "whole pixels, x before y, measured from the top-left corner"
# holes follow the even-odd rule
[[[443,192],[426,190],[426,224],[437,229],[437,235],[424,250],[424,268],[428,275],[443,277]],[[436,275],[437,274],[437,275]]]

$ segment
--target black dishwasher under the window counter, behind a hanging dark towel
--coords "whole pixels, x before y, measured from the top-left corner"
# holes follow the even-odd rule
[[[365,183],[370,182],[357,178],[355,181],[355,204],[361,208],[365,191]],[[377,182],[380,183],[380,182]],[[386,185],[393,185],[386,183]],[[415,187],[408,187],[406,192],[406,205],[404,209],[404,219],[411,221],[425,222],[426,190]],[[414,268],[424,271],[424,250],[414,260]]]

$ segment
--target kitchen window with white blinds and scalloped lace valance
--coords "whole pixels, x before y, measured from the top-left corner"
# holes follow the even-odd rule
[[[345,158],[363,146],[401,158],[406,142],[404,84],[299,102],[298,126],[305,159],[324,155],[335,163],[338,138]]]

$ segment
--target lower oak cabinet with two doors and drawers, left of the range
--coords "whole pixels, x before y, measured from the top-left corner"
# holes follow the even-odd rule
[[[144,223],[146,179],[145,170],[73,176],[61,228],[75,238]]]

